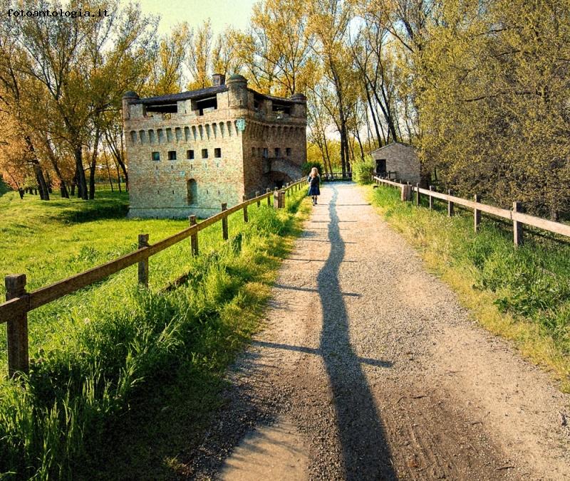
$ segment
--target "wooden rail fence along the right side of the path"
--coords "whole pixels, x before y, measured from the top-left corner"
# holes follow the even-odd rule
[[[415,192],[415,204],[420,205],[421,197],[427,196],[429,199],[430,209],[433,208],[433,199],[440,199],[447,202],[447,215],[453,216],[455,213],[455,205],[463,206],[473,210],[473,228],[477,232],[479,225],[481,223],[481,213],[488,213],[492,216],[500,217],[512,221],[513,226],[513,240],[514,245],[521,245],[523,242],[523,225],[533,226],[540,228],[544,231],[549,231],[552,233],[559,234],[560,236],[570,237],[570,226],[549,221],[544,218],[529,216],[526,213],[522,213],[522,203],[513,202],[512,210],[506,208],[499,208],[495,206],[489,206],[486,203],[481,203],[481,197],[475,194],[472,201],[467,199],[462,199],[461,197],[456,197],[452,195],[452,191],[448,190],[447,194],[441,192],[436,192],[433,190],[433,186],[430,189],[420,188],[420,184],[415,184],[412,186],[410,184],[400,184],[395,181],[390,181],[388,179],[382,179],[381,177],[373,176],[373,180],[376,184],[385,184],[396,187],[401,191],[402,201],[412,201],[413,192]]]

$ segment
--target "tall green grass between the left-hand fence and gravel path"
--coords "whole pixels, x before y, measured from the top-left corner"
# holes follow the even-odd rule
[[[130,406],[149,408],[158,392],[181,378],[210,399],[211,405],[193,405],[202,417],[209,415],[216,401],[207,393],[217,392],[224,367],[257,329],[303,196],[290,196],[280,212],[252,206],[247,224],[240,213],[231,216],[227,243],[221,226],[205,229],[197,257],[189,242],[152,257],[149,290],[136,285],[133,266],[31,312],[30,326],[42,329],[31,330],[30,374],[0,383],[4,477],[133,476],[133,470],[119,475],[109,468],[119,462],[109,453],[109,440],[120,435],[115,428],[131,416]],[[80,257],[89,263],[101,258],[96,248],[80,250]],[[184,285],[164,289],[182,274]],[[175,396],[174,402],[185,399]],[[142,456],[138,464],[150,469]]]

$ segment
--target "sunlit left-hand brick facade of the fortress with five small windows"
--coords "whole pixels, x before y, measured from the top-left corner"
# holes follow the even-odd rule
[[[242,132],[234,120],[219,113],[204,114],[201,122],[162,114],[129,122],[126,147],[131,217],[194,213],[204,218],[218,212],[222,202],[232,206],[241,201]],[[202,149],[207,149],[207,158],[202,157]],[[214,149],[220,149],[220,157],[214,157]],[[189,150],[194,159],[187,158]],[[152,152],[159,152],[160,161],[152,160]],[[176,152],[176,159],[169,160],[168,152]],[[191,179],[197,192],[195,201],[188,204],[187,181]]]

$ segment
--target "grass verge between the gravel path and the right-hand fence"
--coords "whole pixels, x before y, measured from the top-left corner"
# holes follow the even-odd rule
[[[546,366],[570,392],[570,244],[525,236],[514,248],[512,227],[483,218],[473,231],[472,211],[447,217],[436,208],[401,202],[389,187],[367,189],[391,226],[420,250],[430,270],[441,275],[464,305],[490,331],[514,340],[537,364]],[[457,209],[456,209],[457,210]]]

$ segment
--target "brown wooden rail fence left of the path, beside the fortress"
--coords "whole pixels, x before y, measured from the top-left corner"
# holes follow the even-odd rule
[[[0,324],[7,324],[7,340],[8,340],[8,373],[10,377],[14,377],[19,373],[27,373],[28,360],[28,312],[37,309],[43,305],[57,300],[65,295],[76,292],[83,287],[87,287],[95,282],[105,279],[112,274],[118,273],[120,270],[130,267],[138,263],[138,282],[145,287],[148,286],[148,260],[152,255],[160,253],[162,250],[169,248],[181,240],[190,237],[192,255],[198,255],[198,233],[212,224],[222,221],[222,236],[224,240],[228,238],[228,216],[234,212],[243,210],[244,221],[248,222],[247,207],[252,203],[257,203],[259,207],[261,201],[267,199],[267,205],[271,206],[271,198],[273,198],[274,208],[283,208],[285,206],[285,196],[291,191],[297,191],[304,187],[306,180],[291,182],[281,190],[271,191],[266,189],[265,194],[256,192],[253,199],[245,199],[242,203],[227,208],[226,203],[222,203],[222,211],[204,221],[197,223],[196,216],[190,216],[190,227],[184,231],[174,234],[150,245],[148,243],[148,234],[140,234],[138,236],[138,250],[127,255],[123,255],[115,260],[111,260],[103,265],[98,265],[93,269],[86,270],[41,287],[33,292],[26,292],[26,275],[16,274],[7,275],[6,282],[6,302],[0,304]]]

